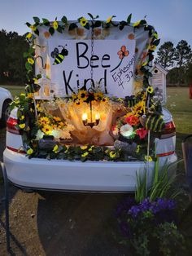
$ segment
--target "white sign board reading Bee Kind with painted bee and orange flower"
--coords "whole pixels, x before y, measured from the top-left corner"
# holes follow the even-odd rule
[[[50,78],[63,95],[100,84],[109,95],[123,97],[133,91],[135,40],[48,40]],[[93,81],[91,81],[91,66]]]

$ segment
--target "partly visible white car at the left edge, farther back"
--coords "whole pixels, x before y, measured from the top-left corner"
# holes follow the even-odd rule
[[[6,126],[6,121],[9,116],[9,104],[12,101],[11,92],[0,87],[0,126]]]

